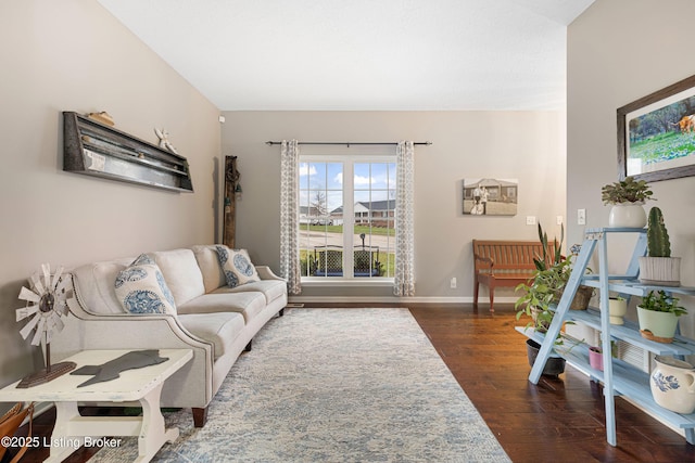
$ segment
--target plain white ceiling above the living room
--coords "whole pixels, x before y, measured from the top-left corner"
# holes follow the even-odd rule
[[[558,110],[594,0],[99,0],[222,111]]]

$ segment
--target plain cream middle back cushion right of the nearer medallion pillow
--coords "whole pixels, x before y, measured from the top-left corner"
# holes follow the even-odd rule
[[[177,306],[205,294],[203,274],[191,249],[161,250],[150,256],[160,266]]]

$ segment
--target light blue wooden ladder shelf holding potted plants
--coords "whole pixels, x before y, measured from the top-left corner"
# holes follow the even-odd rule
[[[634,246],[632,259],[626,274],[608,274],[608,244],[607,236],[617,233],[637,233],[637,242]],[[589,261],[598,252],[598,273],[585,274]],[[601,297],[601,310],[590,308],[586,311],[569,310],[574,294],[580,284],[598,288],[601,294],[609,292],[620,293],[626,296],[643,297],[652,290],[664,290],[669,293],[695,295],[693,287],[652,286],[639,283],[640,272],[639,257],[646,255],[646,229],[601,228],[589,229],[584,234],[584,242],[577,256],[572,273],[565,287],[563,297],[555,308],[553,322],[545,334],[535,333],[533,330],[517,327],[520,333],[533,338],[541,344],[541,349],[529,374],[529,381],[538,384],[543,372],[543,366],[549,357],[561,356],[569,364],[604,384],[606,406],[606,440],[611,446],[617,445],[616,437],[616,411],[615,396],[622,395],[629,398],[643,410],[671,424],[684,429],[687,442],[695,445],[695,414],[683,415],[659,407],[652,397],[649,387],[649,374],[640,371],[633,365],[611,357],[610,349],[603,349],[604,371],[597,371],[589,364],[589,349],[585,345],[573,346],[564,349],[555,346],[555,339],[560,333],[563,323],[568,320],[581,321],[586,325],[601,331],[601,343],[610,346],[611,339],[620,339],[639,346],[647,351],[664,356],[695,355],[695,342],[693,339],[677,336],[673,344],[655,343],[645,339],[640,334],[634,323],[626,322],[624,325],[611,325],[608,311],[608,298]]]

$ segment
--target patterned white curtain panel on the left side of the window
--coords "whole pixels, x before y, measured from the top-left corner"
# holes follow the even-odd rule
[[[282,140],[280,150],[280,275],[288,293],[302,292],[299,244],[300,149],[296,140]]]

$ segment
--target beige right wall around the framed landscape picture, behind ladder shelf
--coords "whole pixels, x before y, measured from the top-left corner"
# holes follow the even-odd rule
[[[601,188],[617,180],[616,110],[695,74],[690,48],[692,0],[597,0],[568,29],[567,210],[586,209],[586,227],[605,227],[608,206]],[[695,286],[695,178],[653,183],[671,236],[673,255],[683,258],[682,283]],[[570,221],[570,240],[584,227]],[[630,246],[615,242],[612,271],[624,270]],[[614,249],[611,246],[610,249]],[[682,300],[691,314],[684,333],[695,335],[695,300]]]

